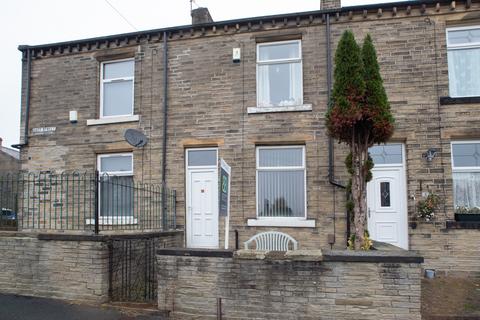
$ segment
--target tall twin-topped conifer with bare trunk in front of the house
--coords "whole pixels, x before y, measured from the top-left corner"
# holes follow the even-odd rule
[[[353,248],[369,247],[365,224],[367,182],[371,179],[373,162],[368,148],[386,142],[394,129],[394,119],[370,35],[365,37],[362,48],[349,30],[343,33],[338,43],[326,125],[328,134],[350,149],[346,163],[351,165],[347,164],[347,167],[352,176]]]

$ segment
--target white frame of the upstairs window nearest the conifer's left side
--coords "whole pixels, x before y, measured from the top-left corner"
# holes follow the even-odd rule
[[[273,60],[262,60],[262,61],[260,61],[260,48],[262,46],[266,47],[266,46],[272,46],[272,45],[276,45],[276,44],[288,44],[288,43],[298,43],[298,58],[273,59]],[[277,109],[278,108],[285,108],[285,109],[288,108],[288,109],[292,109],[292,107],[295,107],[295,106],[262,107],[262,106],[260,106],[260,103],[259,103],[260,102],[259,101],[259,94],[258,94],[259,93],[259,85],[260,85],[260,82],[259,82],[259,79],[258,79],[258,69],[259,69],[259,67],[263,66],[263,65],[289,63],[289,62],[293,62],[293,63],[300,62],[301,75],[300,75],[300,104],[299,104],[299,107],[301,107],[302,110],[299,110],[299,111],[311,110],[311,106],[310,106],[310,108],[308,108],[308,106],[303,106],[303,59],[302,59],[302,40],[301,39],[257,43],[257,65],[256,65],[255,78],[256,78],[256,81],[257,81],[257,108],[258,109],[262,109],[262,108],[277,108]],[[280,111],[280,110],[274,110],[274,111]],[[296,111],[296,110],[288,110],[288,111]],[[258,113],[258,112],[251,112],[251,113]]]

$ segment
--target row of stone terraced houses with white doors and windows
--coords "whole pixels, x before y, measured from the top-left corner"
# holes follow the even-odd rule
[[[425,268],[480,276],[480,223],[455,215],[473,220],[480,207],[478,2],[326,0],[318,11],[220,22],[192,14],[188,26],[20,46],[21,169],[163,183],[176,190],[187,247],[232,248],[277,230],[301,249],[345,248],[346,148],[328,138],[324,116],[340,35],[370,33],[396,119],[391,141],[371,149],[370,235],[418,251]],[[133,147],[127,129],[148,143]],[[220,159],[231,166],[228,219]],[[108,195],[117,207],[100,210],[100,224],[135,228],[133,193],[102,190],[100,207]],[[431,193],[440,204],[425,221],[418,202]]]

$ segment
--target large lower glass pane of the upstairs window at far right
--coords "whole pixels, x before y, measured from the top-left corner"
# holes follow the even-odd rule
[[[452,97],[480,96],[480,48],[448,50]]]

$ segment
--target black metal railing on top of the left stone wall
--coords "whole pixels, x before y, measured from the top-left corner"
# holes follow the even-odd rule
[[[98,172],[0,175],[0,227],[6,227],[8,220],[22,230],[170,230],[176,228],[175,204],[174,190],[131,176]]]

